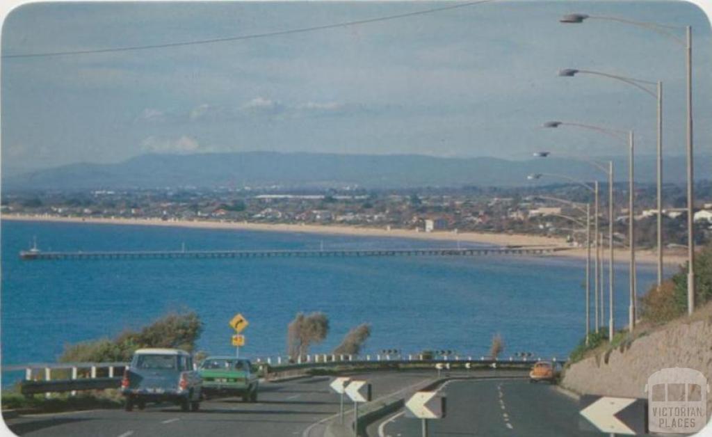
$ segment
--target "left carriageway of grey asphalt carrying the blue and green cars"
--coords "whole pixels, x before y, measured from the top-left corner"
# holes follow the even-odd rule
[[[352,374],[367,379],[374,399],[435,376],[434,371]],[[149,405],[144,411],[93,410],[21,416],[6,421],[20,436],[320,436],[320,422],[339,411],[331,379],[313,377],[261,384],[257,403],[211,399],[200,411],[182,413],[171,404]],[[352,404],[345,403],[347,408]],[[323,427],[322,427],[323,428]]]

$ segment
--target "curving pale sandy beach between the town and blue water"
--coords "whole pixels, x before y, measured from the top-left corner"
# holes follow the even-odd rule
[[[525,234],[491,234],[486,232],[418,232],[416,230],[393,229],[388,230],[378,227],[352,227],[343,225],[290,225],[286,223],[250,223],[250,222],[218,222],[209,220],[161,220],[158,218],[105,218],[105,217],[60,217],[55,215],[21,215],[3,214],[1,220],[16,220],[26,222],[65,222],[85,223],[90,225],[132,225],[132,226],[164,226],[164,227],[189,227],[194,229],[215,230],[243,230],[258,232],[292,232],[320,235],[347,235],[351,237],[391,237],[410,238],[429,241],[460,241],[483,245],[495,246],[523,246],[523,247],[567,247],[567,250],[556,252],[548,257],[568,257],[585,259],[586,250],[583,247],[570,247],[563,238],[543,237],[540,235]],[[607,250],[603,250],[602,259],[607,260]],[[595,250],[592,250],[592,256]],[[656,252],[652,250],[636,250],[636,259],[639,264],[656,264]],[[617,249],[617,262],[624,262],[629,258],[629,251]],[[665,254],[666,269],[676,268],[686,260],[683,251],[676,250]]]

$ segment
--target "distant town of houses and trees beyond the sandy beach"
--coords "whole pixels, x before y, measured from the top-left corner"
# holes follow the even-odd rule
[[[712,184],[702,182],[694,221],[699,242],[712,240]],[[607,188],[600,195],[601,232],[607,226]],[[615,187],[614,239],[624,244],[627,192]],[[665,187],[664,235],[668,247],[686,244],[684,187]],[[637,190],[637,244],[654,247],[654,186]],[[575,202],[575,204],[567,203]],[[585,202],[592,195],[575,185],[519,188],[424,188],[421,190],[286,190],[282,187],[73,192],[5,192],[1,212],[11,215],[165,221],[249,222],[371,227],[419,232],[491,232],[567,237],[585,241]],[[594,205],[591,203],[591,214]],[[575,217],[581,226],[562,217]],[[593,218],[592,218],[593,220]],[[577,229],[575,229],[577,228]]]

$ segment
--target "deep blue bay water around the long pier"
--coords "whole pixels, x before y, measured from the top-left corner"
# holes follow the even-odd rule
[[[41,250],[263,250],[455,247],[434,242],[187,227],[1,222],[2,363],[54,361],[67,344],[139,329],[168,312],[194,310],[199,349],[232,354],[236,313],[250,322],[246,356],[284,354],[297,312],[328,314],[329,352],[347,331],[372,326],[366,353],[451,349],[567,356],[585,330],[584,262],[560,257],[366,257],[26,261]],[[464,245],[463,245],[464,246]],[[639,292],[654,270],[639,267]],[[616,272],[616,321],[628,311],[627,265]],[[607,294],[607,293],[606,293]],[[593,314],[593,311],[592,311]],[[6,375],[4,382],[14,376]],[[5,384],[4,384],[5,385]]]

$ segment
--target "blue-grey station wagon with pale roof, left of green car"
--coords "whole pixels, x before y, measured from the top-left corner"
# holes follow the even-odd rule
[[[180,349],[138,349],[124,372],[121,392],[126,411],[147,402],[172,402],[182,411],[198,411],[202,381],[193,359]]]

